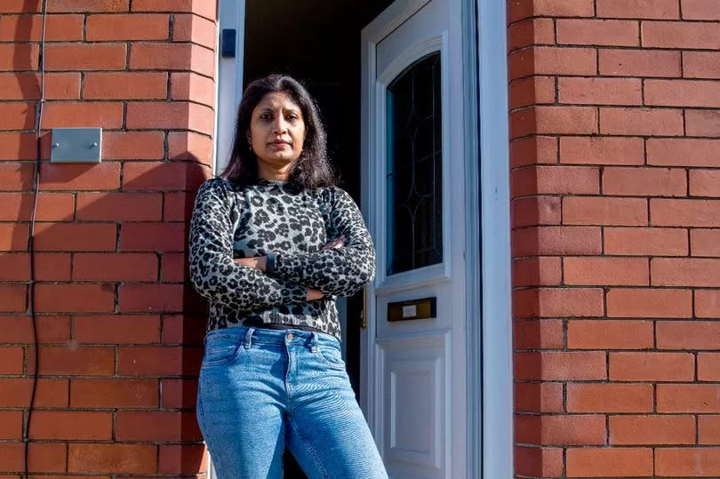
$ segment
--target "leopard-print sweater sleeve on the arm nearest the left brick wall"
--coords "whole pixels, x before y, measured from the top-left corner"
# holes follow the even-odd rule
[[[208,180],[197,192],[190,223],[190,280],[204,298],[252,310],[306,300],[304,284],[265,275],[233,260],[231,199],[223,180]]]

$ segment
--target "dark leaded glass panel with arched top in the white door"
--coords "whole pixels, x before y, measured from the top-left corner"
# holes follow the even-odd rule
[[[440,52],[405,68],[387,92],[388,271],[443,260]]]

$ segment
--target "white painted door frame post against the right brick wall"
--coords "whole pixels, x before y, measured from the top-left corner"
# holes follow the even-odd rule
[[[482,302],[481,331],[468,330],[468,341],[482,344],[482,447],[478,465],[482,477],[508,479],[514,475],[513,462],[513,346],[512,281],[510,275],[510,153],[508,127],[508,20],[504,0],[464,0],[471,4],[468,17],[476,18],[475,102],[479,115],[479,148],[471,163],[480,172],[480,218],[482,245],[481,284],[476,291]],[[472,12],[476,12],[472,14]],[[472,34],[468,34],[472,37]],[[473,75],[474,76],[474,75]],[[468,122],[469,123],[469,122]],[[479,126],[479,127],[478,127]],[[477,134],[474,135],[477,138]],[[476,174],[476,173],[474,173]],[[469,175],[468,175],[469,176]],[[477,177],[476,177],[477,178]],[[475,195],[477,196],[477,190]],[[475,197],[476,198],[476,197]],[[470,201],[474,201],[470,198]],[[474,219],[475,221],[477,218]],[[474,264],[477,264],[474,261]],[[473,323],[477,326],[477,323]],[[479,340],[478,340],[479,339]],[[473,419],[476,420],[476,419]],[[481,477],[481,475],[475,475]]]

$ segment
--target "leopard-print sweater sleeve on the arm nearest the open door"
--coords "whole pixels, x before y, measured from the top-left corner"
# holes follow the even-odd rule
[[[350,296],[375,277],[375,248],[357,204],[348,192],[331,188],[327,239],[345,236],[340,248],[278,253],[273,275],[335,296]]]

